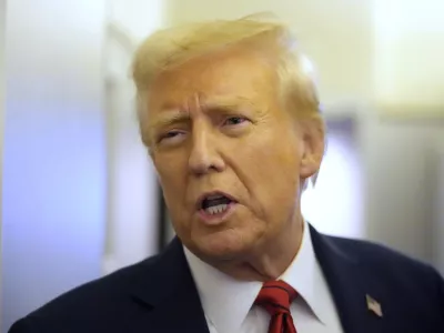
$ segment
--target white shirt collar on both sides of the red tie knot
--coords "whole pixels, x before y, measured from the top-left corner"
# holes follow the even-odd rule
[[[238,332],[256,299],[262,282],[239,281],[196,258],[184,248],[206,320],[218,332]],[[301,248],[279,280],[289,283],[303,297],[312,313],[324,322],[323,300],[326,291],[315,259],[309,224],[304,222]],[[322,285],[323,287],[319,287]]]

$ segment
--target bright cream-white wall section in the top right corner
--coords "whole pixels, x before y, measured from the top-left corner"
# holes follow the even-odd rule
[[[396,114],[441,113],[444,105],[444,2],[373,0],[375,95]],[[394,110],[393,110],[394,109]]]

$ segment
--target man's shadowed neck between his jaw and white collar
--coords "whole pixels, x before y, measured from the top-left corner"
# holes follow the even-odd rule
[[[296,256],[302,244],[304,222],[299,214],[275,239],[261,244],[240,260],[213,263],[213,265],[242,281],[272,281],[281,276]]]

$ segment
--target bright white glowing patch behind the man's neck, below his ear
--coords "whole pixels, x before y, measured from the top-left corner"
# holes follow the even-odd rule
[[[302,195],[304,218],[332,235],[364,238],[363,164],[353,119],[327,121],[327,149],[314,188]]]

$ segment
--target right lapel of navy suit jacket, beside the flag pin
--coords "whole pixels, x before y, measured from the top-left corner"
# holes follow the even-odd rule
[[[384,332],[384,317],[369,309],[367,295],[375,301],[382,300],[373,283],[375,279],[372,272],[367,272],[353,254],[344,253],[333,238],[321,235],[312,226],[310,229],[313,249],[333,295],[344,333]]]

